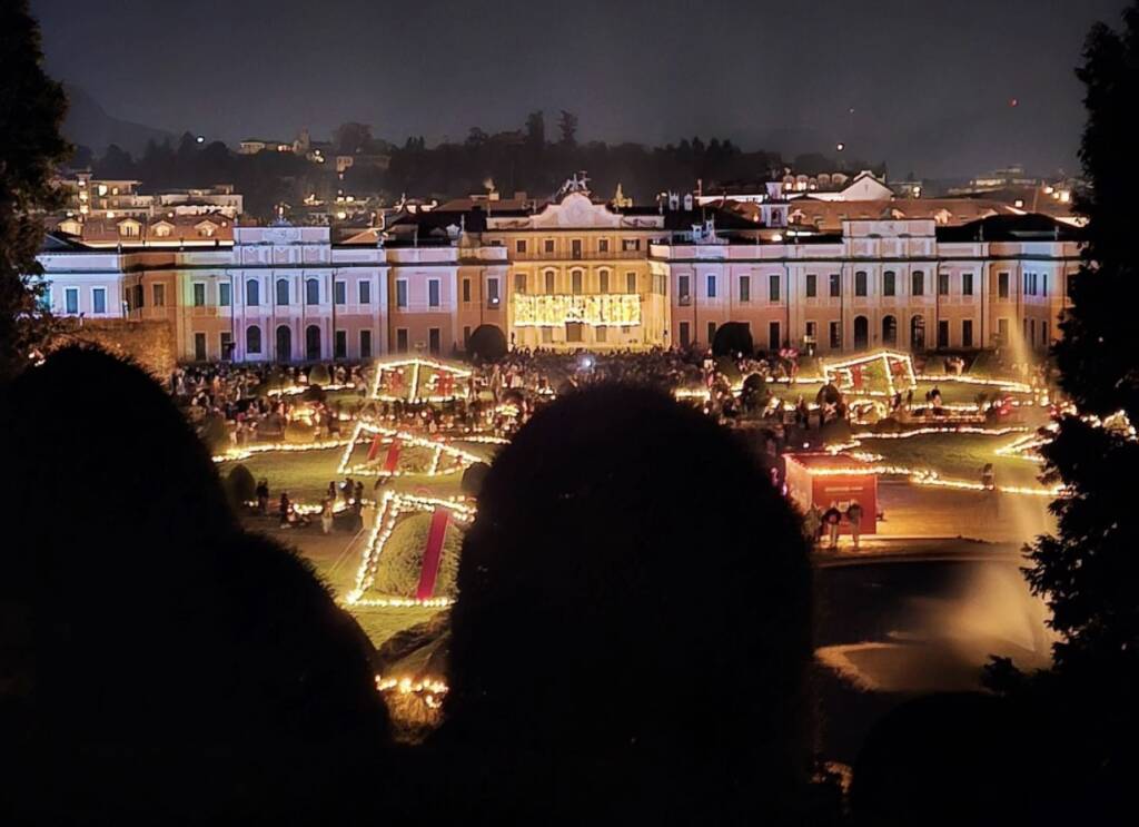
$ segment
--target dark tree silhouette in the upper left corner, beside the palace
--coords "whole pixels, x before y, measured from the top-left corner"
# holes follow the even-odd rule
[[[67,112],[60,83],[43,72],[40,27],[27,0],[0,6],[0,380],[24,369],[52,333],[36,261],[39,214],[59,204],[55,167],[71,153],[59,132]]]

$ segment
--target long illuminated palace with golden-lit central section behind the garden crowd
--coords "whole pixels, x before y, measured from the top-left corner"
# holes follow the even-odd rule
[[[670,208],[673,207],[673,208]],[[454,202],[333,243],[328,227],[232,227],[195,246],[40,256],[55,312],[169,325],[183,361],[367,360],[461,352],[480,326],[517,347],[706,345],[744,322],[760,349],[828,354],[1040,350],[1080,265],[1072,227],[998,215],[860,220],[823,235],[571,188],[546,204]]]

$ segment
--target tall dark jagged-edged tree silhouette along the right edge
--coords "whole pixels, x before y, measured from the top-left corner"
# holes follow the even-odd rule
[[[1090,187],[1077,194],[1088,218],[1084,264],[1072,277],[1073,305],[1056,345],[1060,383],[1081,414],[1120,411],[1139,421],[1139,350],[1133,309],[1139,303],[1139,237],[1133,193],[1130,110],[1139,97],[1139,3],[1120,32],[1098,24],[1077,74],[1087,89],[1088,122],[1081,158]],[[1067,488],[1052,503],[1054,535],[1030,548],[1029,582],[1052,612],[1062,640],[1051,673],[994,682],[1009,688],[1049,721],[1060,744],[1064,783],[1089,824],[1113,822],[1131,806],[1139,739],[1139,513],[1134,469],[1139,443],[1126,428],[1077,417],[1060,423],[1042,453],[1048,474]],[[1005,680],[1000,680],[1001,678]],[[1098,814],[1092,814],[1098,813]],[[1105,820],[1106,819],[1106,820]]]

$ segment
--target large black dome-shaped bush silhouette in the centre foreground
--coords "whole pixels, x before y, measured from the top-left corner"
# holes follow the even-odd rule
[[[754,458],[667,395],[581,391],[486,476],[434,746],[509,819],[776,818],[810,657],[808,552]]]

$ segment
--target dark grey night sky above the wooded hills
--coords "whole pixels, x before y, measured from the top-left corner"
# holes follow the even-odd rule
[[[970,175],[1074,171],[1073,75],[1125,0],[32,0],[48,67],[109,114],[226,141],[402,142],[576,112],[581,140],[730,137]],[[1017,106],[1010,101],[1017,100]],[[853,110],[853,112],[852,112]]]

